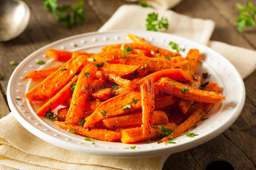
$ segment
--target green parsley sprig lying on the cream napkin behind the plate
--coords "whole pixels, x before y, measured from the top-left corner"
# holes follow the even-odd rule
[[[158,14],[155,12],[152,12],[147,15],[146,18],[146,27],[148,31],[158,31],[159,29],[168,29],[169,23],[167,18],[161,18],[161,20],[158,20]]]

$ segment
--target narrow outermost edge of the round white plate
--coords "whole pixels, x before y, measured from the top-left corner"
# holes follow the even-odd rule
[[[22,115],[20,115],[18,113],[18,111],[16,111],[15,105],[14,105],[14,103],[11,100],[11,91],[10,91],[11,87],[10,86],[11,86],[11,82],[12,82],[12,80],[14,78],[15,73],[17,73],[17,70],[18,70],[19,66],[23,65],[23,63],[26,62],[27,60],[29,60],[32,56],[34,56],[35,53],[41,52],[42,50],[48,48],[48,46],[52,46],[52,45],[58,44],[58,43],[63,42],[63,41],[76,39],[76,38],[79,38],[79,37],[82,37],[82,36],[89,36],[89,35],[95,35],[95,34],[104,34],[104,33],[114,33],[114,32],[126,33],[126,34],[127,33],[131,33],[131,32],[136,32],[136,33],[139,33],[139,32],[145,32],[146,33],[147,32],[149,34],[150,33],[159,33],[159,34],[162,34],[162,35],[166,35],[167,34],[167,35],[174,36],[174,37],[176,37],[177,39],[180,39],[180,40],[189,41],[192,44],[195,44],[196,46],[203,46],[204,48],[207,49],[207,51],[209,50],[209,51],[212,51],[213,53],[217,53],[213,49],[210,49],[206,45],[199,44],[198,42],[195,42],[195,41],[192,41],[192,40],[189,40],[189,39],[185,39],[184,37],[179,37],[179,36],[175,36],[175,35],[172,35],[172,34],[169,34],[169,33],[163,33],[163,32],[150,32],[150,31],[141,31],[141,30],[119,29],[119,30],[104,31],[104,32],[88,32],[88,33],[82,33],[82,34],[79,34],[79,35],[65,37],[64,39],[60,39],[60,40],[51,42],[50,44],[47,44],[45,46],[42,46],[42,48],[39,48],[38,50],[35,50],[35,52],[31,53],[29,56],[24,58],[23,61],[20,62],[19,65],[15,68],[15,70],[13,71],[13,73],[10,76],[10,79],[9,79],[9,82],[8,82],[8,85],[7,85],[7,101],[8,101],[9,107],[11,109],[11,112],[14,113],[15,118],[20,122],[20,124],[25,129],[30,131],[30,133],[36,135],[36,137],[42,139],[43,141],[51,143],[51,144],[53,144],[53,145],[55,145],[57,147],[62,147],[65,150],[71,150],[71,151],[81,152],[81,153],[84,153],[84,154],[91,154],[91,155],[98,155],[98,156],[108,156],[108,157],[112,157],[112,158],[117,158],[117,157],[118,158],[148,158],[148,157],[152,157],[152,156],[150,156],[148,154],[151,153],[151,152],[154,152],[155,150],[158,151],[158,154],[155,154],[154,156],[164,155],[164,154],[161,154],[161,152],[166,153],[165,150],[168,150],[167,147],[155,148],[155,149],[152,148],[150,150],[126,150],[125,152],[122,152],[121,155],[120,155],[121,152],[116,152],[116,151],[112,151],[112,150],[108,150],[108,153],[102,153],[102,149],[101,148],[97,148],[97,147],[94,147],[94,148],[90,147],[90,150],[88,150],[86,152],[84,152],[84,150],[78,150],[76,144],[70,143],[70,142],[67,142],[67,141],[64,141],[64,140],[61,140],[59,138],[55,138],[52,135],[46,134],[42,130],[39,130],[39,129],[35,128],[34,126],[32,126],[29,122],[27,122],[23,118]],[[234,70],[236,70],[236,74],[239,75],[240,82],[242,83],[241,84],[242,85],[242,100],[241,100],[242,102],[239,104],[239,107],[237,108],[237,111],[234,113],[235,117],[233,117],[232,120],[226,122],[226,124],[223,124],[222,126],[218,127],[216,130],[214,130],[211,133],[209,133],[208,134],[208,138],[203,137],[203,138],[193,139],[193,141],[189,141],[187,143],[183,143],[182,145],[179,145],[178,148],[177,147],[176,148],[173,147],[172,148],[172,153],[188,150],[189,148],[199,146],[199,145],[201,145],[201,144],[203,144],[205,142],[210,141],[214,137],[217,137],[217,135],[221,134],[223,131],[228,129],[229,126],[232,125],[233,122],[237,120],[238,116],[240,116],[240,113],[242,112],[243,106],[245,104],[245,95],[246,94],[245,94],[245,85],[243,83],[241,75],[238,73],[237,69],[232,65],[232,63],[230,63],[228,61],[228,59],[226,59],[225,57],[223,57],[219,53],[217,53],[217,54],[220,57],[222,57],[222,59],[224,59],[226,62],[228,62],[229,65],[232,66]],[[42,138],[42,136],[44,138]],[[56,142],[56,141],[58,141],[58,142]],[[61,146],[57,145],[56,143],[61,143]],[[70,148],[65,147],[67,145],[69,145]],[[187,145],[187,146],[184,148],[184,145]],[[89,148],[87,146],[84,146],[84,147]]]

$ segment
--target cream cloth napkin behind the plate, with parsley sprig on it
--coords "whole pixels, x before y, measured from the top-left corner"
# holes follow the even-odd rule
[[[137,5],[123,5],[118,8],[112,18],[99,31],[115,29],[146,30],[147,14],[151,12],[157,12],[159,18],[164,16],[168,19],[169,28],[164,32],[208,45],[228,59],[236,67],[242,78],[246,78],[247,75],[250,75],[255,70],[256,52],[254,50],[228,45],[223,42],[209,42],[214,29],[214,22],[212,20],[190,18],[171,10],[144,8]]]

